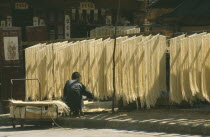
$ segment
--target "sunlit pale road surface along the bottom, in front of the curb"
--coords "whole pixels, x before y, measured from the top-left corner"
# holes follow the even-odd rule
[[[157,132],[126,131],[114,129],[71,129],[27,126],[24,129],[0,127],[0,137],[199,137],[192,135],[167,134]]]

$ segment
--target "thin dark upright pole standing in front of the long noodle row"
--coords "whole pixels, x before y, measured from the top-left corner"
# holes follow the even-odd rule
[[[117,8],[117,16],[115,21],[115,33],[114,33],[114,50],[113,50],[113,95],[112,95],[112,113],[114,114],[114,106],[115,106],[115,95],[116,95],[116,79],[115,79],[115,69],[116,69],[116,62],[115,62],[115,55],[116,55],[116,47],[117,47],[117,25],[119,20],[120,14],[120,0],[118,0],[118,8]]]

